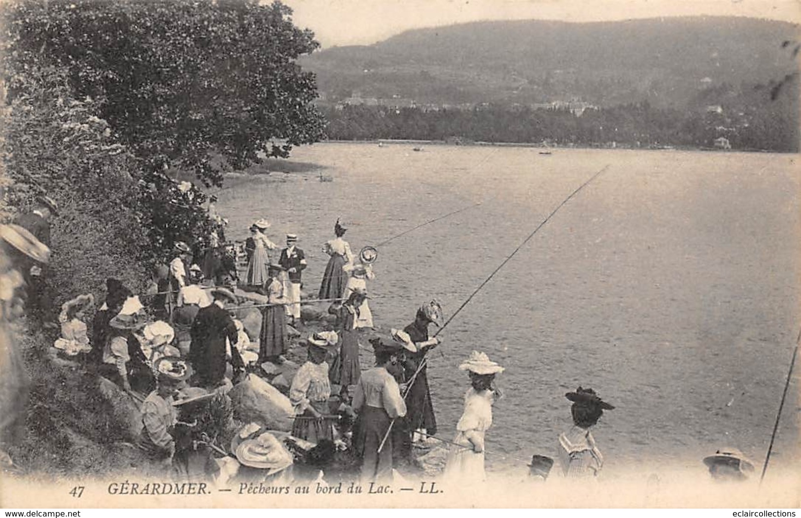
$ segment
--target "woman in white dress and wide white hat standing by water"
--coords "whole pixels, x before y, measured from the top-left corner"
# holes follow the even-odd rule
[[[471,387],[465,393],[465,412],[456,426],[457,434],[445,464],[445,480],[460,484],[476,484],[485,480],[484,436],[493,424],[493,402],[496,390],[493,379],[504,371],[497,363],[478,351],[459,366],[468,371]]]

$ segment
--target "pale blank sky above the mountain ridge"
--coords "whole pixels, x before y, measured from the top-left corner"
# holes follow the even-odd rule
[[[799,0],[282,0],[323,48],[370,45],[405,30],[481,20],[600,22],[747,16],[801,22]]]

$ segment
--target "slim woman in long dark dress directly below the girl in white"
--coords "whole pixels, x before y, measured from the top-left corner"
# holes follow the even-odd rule
[[[340,305],[336,315],[334,328],[340,335],[340,354],[336,355],[329,379],[334,385],[340,385],[340,396],[347,396],[348,386],[359,383],[361,376],[361,365],[359,363],[359,331],[356,321],[359,319],[359,311],[362,302],[367,298],[367,294],[360,289],[352,291],[348,300]]]

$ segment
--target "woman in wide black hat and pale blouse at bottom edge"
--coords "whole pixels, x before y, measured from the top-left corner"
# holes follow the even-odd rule
[[[576,392],[568,392],[565,397],[573,401],[570,413],[574,426],[559,436],[562,471],[569,479],[594,479],[603,466],[603,456],[590,428],[598,423],[604,410],[614,407],[601,400],[591,388],[578,387]]]

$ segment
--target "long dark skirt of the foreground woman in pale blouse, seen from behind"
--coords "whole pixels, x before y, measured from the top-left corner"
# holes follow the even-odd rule
[[[389,434],[384,448],[378,452],[384,434],[387,433],[389,419],[384,408],[365,406],[359,416],[360,432],[357,451],[362,452],[361,479],[363,481],[386,481],[392,478],[392,434]]]

